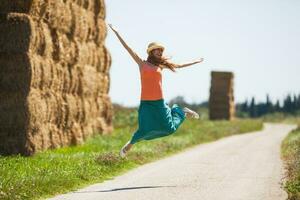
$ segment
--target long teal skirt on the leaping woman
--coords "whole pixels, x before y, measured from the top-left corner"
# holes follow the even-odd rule
[[[130,143],[168,136],[179,128],[184,119],[185,113],[176,104],[170,108],[164,99],[142,100],[138,110],[139,127]]]

